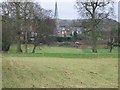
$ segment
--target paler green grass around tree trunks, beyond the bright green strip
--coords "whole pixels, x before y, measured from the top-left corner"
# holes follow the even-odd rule
[[[22,45],[22,50],[24,51],[25,47]],[[33,45],[28,45],[28,52],[31,53]],[[12,45],[10,48],[10,53],[16,53],[16,45]],[[58,47],[58,46],[38,46],[36,48],[36,53],[91,53],[91,48],[76,48],[76,47]],[[109,53],[109,49],[99,49],[98,53]],[[117,48],[113,48],[112,53],[118,53]]]

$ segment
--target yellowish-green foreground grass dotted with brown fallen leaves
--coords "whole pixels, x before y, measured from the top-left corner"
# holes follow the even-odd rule
[[[118,60],[4,57],[3,88],[117,88]]]

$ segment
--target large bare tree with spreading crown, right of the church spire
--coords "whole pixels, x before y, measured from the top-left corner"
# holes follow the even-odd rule
[[[113,2],[102,0],[76,1],[76,8],[82,18],[89,19],[87,27],[91,32],[92,52],[97,53],[97,28],[101,20],[113,14]]]

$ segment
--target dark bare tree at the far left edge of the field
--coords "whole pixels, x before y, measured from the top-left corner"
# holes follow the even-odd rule
[[[13,20],[10,18],[11,4],[8,2],[0,3],[0,14],[2,16],[2,50],[8,51],[12,41]]]

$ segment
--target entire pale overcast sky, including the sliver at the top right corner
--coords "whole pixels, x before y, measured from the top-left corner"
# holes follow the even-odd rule
[[[40,5],[45,9],[51,9],[54,12],[55,2],[58,4],[58,16],[60,19],[78,19],[78,13],[75,9],[75,1],[76,0],[36,0]],[[118,1],[115,1],[115,15],[114,19],[118,20]]]

